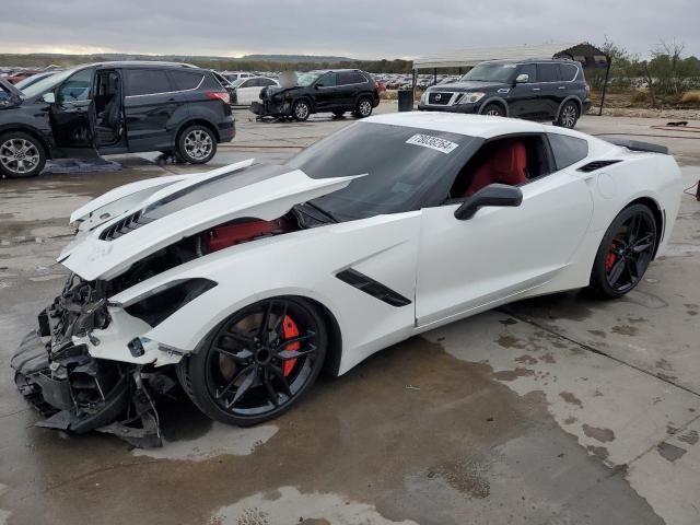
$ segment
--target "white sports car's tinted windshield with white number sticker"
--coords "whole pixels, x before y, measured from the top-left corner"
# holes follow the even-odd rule
[[[311,201],[340,221],[364,219],[419,209],[427,191],[464,165],[466,144],[472,140],[444,131],[358,122],[308,147],[287,165],[312,178],[366,174]]]

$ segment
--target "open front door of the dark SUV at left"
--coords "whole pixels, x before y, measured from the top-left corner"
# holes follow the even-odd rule
[[[45,101],[50,103],[51,133],[60,156],[100,159],[95,132],[94,73],[93,68],[81,69],[54,93],[44,95]]]

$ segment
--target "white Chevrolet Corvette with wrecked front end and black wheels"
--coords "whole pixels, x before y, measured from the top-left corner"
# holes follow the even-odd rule
[[[156,445],[179,383],[209,417],[279,416],[431,328],[533,295],[620,296],[666,244],[665,149],[525,120],[382,115],[283,165],[141,180],[77,210],[72,276],[12,360],[42,425]]]

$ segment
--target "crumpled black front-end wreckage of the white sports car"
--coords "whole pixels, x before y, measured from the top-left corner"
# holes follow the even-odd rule
[[[97,430],[136,446],[160,446],[149,389],[166,392],[176,382],[143,364],[93,357],[91,349],[103,345],[100,336],[110,324],[104,282],[71,276],[12,357],[18,388],[47,418],[39,427],[78,434]]]

